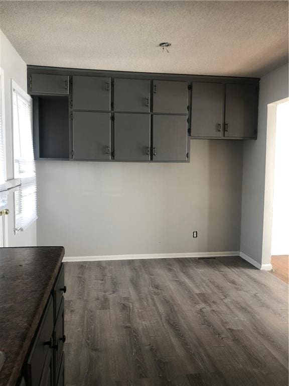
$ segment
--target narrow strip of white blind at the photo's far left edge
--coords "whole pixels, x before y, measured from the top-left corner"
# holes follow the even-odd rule
[[[4,75],[0,68],[0,209],[7,206],[7,191],[1,191],[6,181],[4,141]]]

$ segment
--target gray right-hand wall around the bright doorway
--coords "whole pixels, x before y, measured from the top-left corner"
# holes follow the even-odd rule
[[[263,253],[264,241],[271,243],[271,223],[264,231],[264,192],[267,141],[267,106],[288,96],[288,64],[260,80],[258,139],[244,142],[242,222],[240,251],[260,264],[270,263],[270,248]],[[268,137],[268,141],[271,138]],[[271,158],[271,157],[270,157]],[[269,238],[269,240],[267,240]],[[263,256],[263,258],[262,258]]]

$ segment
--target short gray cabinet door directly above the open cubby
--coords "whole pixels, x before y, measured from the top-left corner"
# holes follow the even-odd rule
[[[35,95],[68,95],[69,76],[32,74],[29,88],[30,93]]]

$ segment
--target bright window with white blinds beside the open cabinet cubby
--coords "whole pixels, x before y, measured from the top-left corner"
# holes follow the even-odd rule
[[[21,186],[14,193],[15,232],[37,219],[36,171],[32,141],[32,99],[15,82],[13,86],[14,178]]]

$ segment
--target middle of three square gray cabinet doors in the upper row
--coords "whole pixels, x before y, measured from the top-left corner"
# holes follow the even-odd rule
[[[114,111],[150,111],[150,80],[114,79]]]

